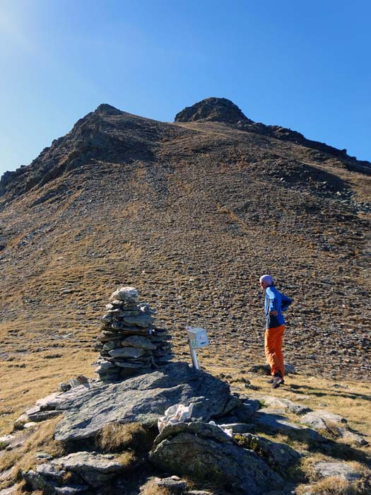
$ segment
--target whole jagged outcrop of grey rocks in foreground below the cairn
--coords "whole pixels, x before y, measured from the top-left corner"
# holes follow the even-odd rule
[[[334,449],[334,441],[321,433],[333,432],[334,425],[346,429],[346,419],[325,410],[303,415],[305,407],[280,397],[231,395],[227,383],[182,362],[168,363],[157,371],[118,383],[86,382],[83,377],[69,383],[77,386],[37,401],[37,407],[46,408],[46,412],[64,415],[54,437],[65,446],[66,455],[53,458],[48,453],[37,453],[40,463],[22,474],[28,488],[45,495],[126,493],[128,469],[134,469],[129,476],[131,491],[127,491],[133,494],[147,493],[140,487],[149,483],[166,488],[172,495],[208,494],[202,490],[204,487],[221,490],[225,495],[271,492],[294,495],[290,468],[303,455],[310,454],[307,450],[300,453],[265,435],[283,433],[297,444],[310,443],[316,451],[323,449],[328,455],[329,450]],[[260,409],[262,402],[271,407]],[[180,404],[189,406],[189,414],[176,422],[163,421],[165,426],[158,429],[158,420],[165,419],[165,410],[170,406],[179,409]],[[286,412],[300,418],[289,421]],[[240,422],[229,423],[230,419]],[[97,439],[101,438],[105,426],[111,428],[112,423],[118,429],[110,430],[110,434],[113,431],[119,434],[121,427],[135,426],[146,431],[146,447],[143,447],[143,438],[138,451],[138,441],[125,440],[123,451],[115,447],[113,454],[107,453],[104,444]],[[303,424],[310,424],[319,432]],[[34,425],[37,428],[37,423]],[[155,436],[155,431],[160,433]],[[351,438],[343,438],[352,443]],[[24,445],[21,431],[0,441],[7,450]],[[148,449],[151,449],[149,453]],[[131,457],[134,452],[136,455]],[[121,457],[124,453],[129,453],[129,458]],[[141,468],[136,472],[135,467],[139,465]],[[167,474],[162,478],[164,472]],[[335,460],[317,462],[314,472],[321,478],[336,476],[346,482],[356,482],[363,476],[346,462]],[[8,472],[2,474],[9,475]],[[182,477],[192,480],[199,490],[189,487],[191,482]]]

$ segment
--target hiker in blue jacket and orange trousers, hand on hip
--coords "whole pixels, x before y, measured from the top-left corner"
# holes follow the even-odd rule
[[[262,275],[259,279],[260,287],[266,292],[264,310],[266,315],[266,332],[264,337],[264,350],[266,360],[271,366],[272,378],[269,383],[272,388],[278,388],[285,383],[285,365],[283,363],[282,339],[285,332],[285,318],[282,312],[293,302],[290,298],[279,292],[274,286],[271,275]]]

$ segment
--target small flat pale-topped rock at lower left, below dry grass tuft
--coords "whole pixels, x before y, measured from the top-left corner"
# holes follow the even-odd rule
[[[54,459],[52,465],[78,474],[93,487],[100,487],[124,469],[113,455],[90,452],[77,452]]]

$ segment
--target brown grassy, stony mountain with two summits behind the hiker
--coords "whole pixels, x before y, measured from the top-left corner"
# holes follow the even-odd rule
[[[91,373],[122,284],[153,302],[175,354],[186,325],[204,326],[204,362],[242,368],[264,354],[257,281],[270,272],[295,301],[286,359],[370,377],[370,163],[225,99],[186,110],[163,123],[100,105],[1,178],[0,368],[20,395],[6,411],[35,377]]]

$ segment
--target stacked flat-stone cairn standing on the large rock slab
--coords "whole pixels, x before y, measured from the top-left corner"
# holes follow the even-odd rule
[[[146,373],[172,359],[171,337],[154,325],[155,310],[139,303],[134,287],[112,293],[95,349],[100,351],[98,373],[103,382]]]

